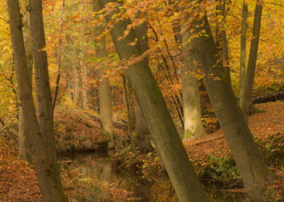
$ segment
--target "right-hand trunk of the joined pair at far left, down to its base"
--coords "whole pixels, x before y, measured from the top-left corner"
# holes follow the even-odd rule
[[[43,28],[43,6],[41,0],[33,0],[30,4],[31,36],[33,38],[33,55],[35,63],[35,85],[38,100],[38,120],[40,133],[43,135],[52,191],[43,196],[44,201],[68,201],[63,193],[60,181],[60,171],[55,147],[53,129],[53,105],[48,75],[48,58],[45,50],[45,33]],[[45,190],[42,190],[44,192]]]

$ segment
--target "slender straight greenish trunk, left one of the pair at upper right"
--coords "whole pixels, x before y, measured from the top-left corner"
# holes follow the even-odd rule
[[[240,55],[240,78],[239,78],[239,105],[245,112],[244,92],[246,88],[246,29],[248,21],[248,3],[244,0],[243,13],[241,15],[241,55]]]

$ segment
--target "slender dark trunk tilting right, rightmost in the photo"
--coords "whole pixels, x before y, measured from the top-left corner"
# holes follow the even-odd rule
[[[253,38],[251,39],[251,48],[249,50],[248,68],[246,70],[246,89],[244,95],[244,112],[249,114],[252,108],[251,95],[253,92],[254,73],[256,71],[256,59],[258,53],[259,34],[261,32],[261,14],[263,1],[256,1],[256,10],[253,20]]]

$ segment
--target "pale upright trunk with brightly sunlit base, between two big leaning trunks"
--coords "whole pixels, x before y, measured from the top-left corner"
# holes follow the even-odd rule
[[[194,55],[190,52],[186,31],[182,36],[182,107],[184,140],[201,137],[205,134],[201,119],[200,94],[198,80],[195,77],[197,65]]]

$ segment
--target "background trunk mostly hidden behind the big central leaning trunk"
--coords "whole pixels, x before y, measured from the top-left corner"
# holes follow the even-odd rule
[[[140,12],[136,13],[136,18],[140,18]],[[138,42],[143,52],[149,49],[148,46],[148,23],[144,21],[141,25],[135,27]],[[148,62],[148,57],[146,57]],[[136,122],[135,122],[135,142],[141,153],[147,153],[151,150],[151,134],[147,127],[145,117],[141,111],[138,102],[136,102]]]

